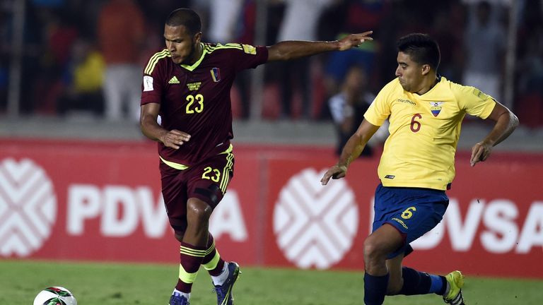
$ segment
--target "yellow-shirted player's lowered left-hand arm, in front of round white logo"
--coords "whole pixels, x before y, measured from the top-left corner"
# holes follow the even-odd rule
[[[345,144],[337,165],[330,167],[327,172],[325,172],[322,179],[320,179],[320,183],[326,185],[330,178],[340,179],[345,177],[347,174],[347,167],[349,167],[353,160],[360,156],[362,150],[366,147],[368,140],[370,140],[378,129],[379,126],[375,126],[364,119],[360,126],[358,126],[356,133],[354,133]]]

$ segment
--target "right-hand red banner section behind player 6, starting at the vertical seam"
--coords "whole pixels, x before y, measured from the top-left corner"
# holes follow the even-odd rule
[[[459,159],[443,221],[413,244],[416,251],[405,263],[420,270],[543,277],[543,164],[509,155],[470,167],[467,157]],[[266,237],[276,242],[267,244],[265,264],[363,270],[378,160],[357,160],[346,179],[320,186],[331,164],[270,161]]]

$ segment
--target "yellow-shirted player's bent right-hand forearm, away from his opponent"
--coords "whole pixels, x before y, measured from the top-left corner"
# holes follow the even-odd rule
[[[488,159],[492,148],[505,140],[518,126],[518,117],[498,102],[496,102],[496,106],[487,119],[491,119],[496,124],[494,124],[494,128],[492,128],[484,140],[473,146],[472,157],[469,160],[472,167],[477,162]]]

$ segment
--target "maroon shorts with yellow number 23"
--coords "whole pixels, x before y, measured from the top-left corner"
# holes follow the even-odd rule
[[[215,208],[234,175],[234,155],[223,153],[187,169],[175,169],[160,161],[162,196],[175,232],[187,229],[187,201],[198,198]]]

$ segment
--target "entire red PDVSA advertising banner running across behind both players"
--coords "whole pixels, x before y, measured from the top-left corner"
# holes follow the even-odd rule
[[[176,262],[156,144],[0,140],[0,257]],[[378,158],[320,185],[332,148],[235,145],[235,174],[210,231],[245,265],[363,270]],[[542,155],[457,156],[443,221],[406,265],[543,277]]]

